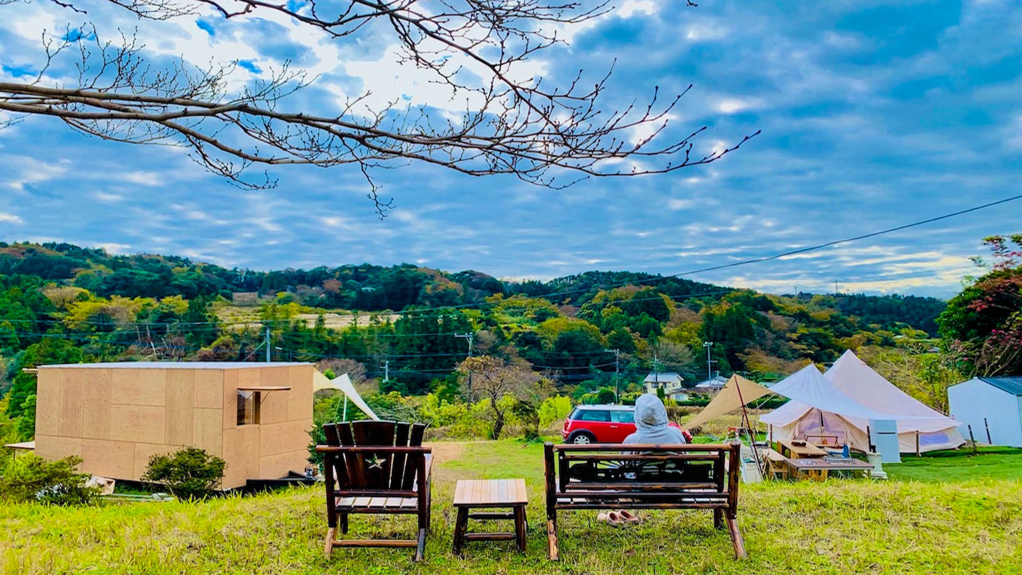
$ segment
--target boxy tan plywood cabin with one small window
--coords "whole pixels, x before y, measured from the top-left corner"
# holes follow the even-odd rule
[[[36,453],[139,481],[149,457],[195,446],[227,461],[222,489],[303,472],[311,363],[125,362],[39,367]]]

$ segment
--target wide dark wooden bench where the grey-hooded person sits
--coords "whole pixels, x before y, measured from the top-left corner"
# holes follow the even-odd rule
[[[547,538],[558,559],[558,510],[712,510],[713,525],[727,524],[735,557],[746,557],[738,531],[741,446],[544,445]]]

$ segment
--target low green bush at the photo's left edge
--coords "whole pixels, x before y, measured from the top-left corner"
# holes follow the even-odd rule
[[[88,505],[96,501],[99,487],[88,487],[89,474],[78,473],[81,457],[47,461],[35,453],[13,457],[0,477],[0,499],[11,502],[41,501],[55,505]]]

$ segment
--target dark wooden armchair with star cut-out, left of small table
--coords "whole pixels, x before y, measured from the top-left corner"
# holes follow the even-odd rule
[[[326,556],[333,547],[415,547],[415,561],[425,554],[429,529],[432,459],[422,447],[426,426],[403,422],[361,421],[326,424],[323,454],[326,479]],[[416,539],[336,539],[347,533],[351,514],[409,514],[418,516]]]

